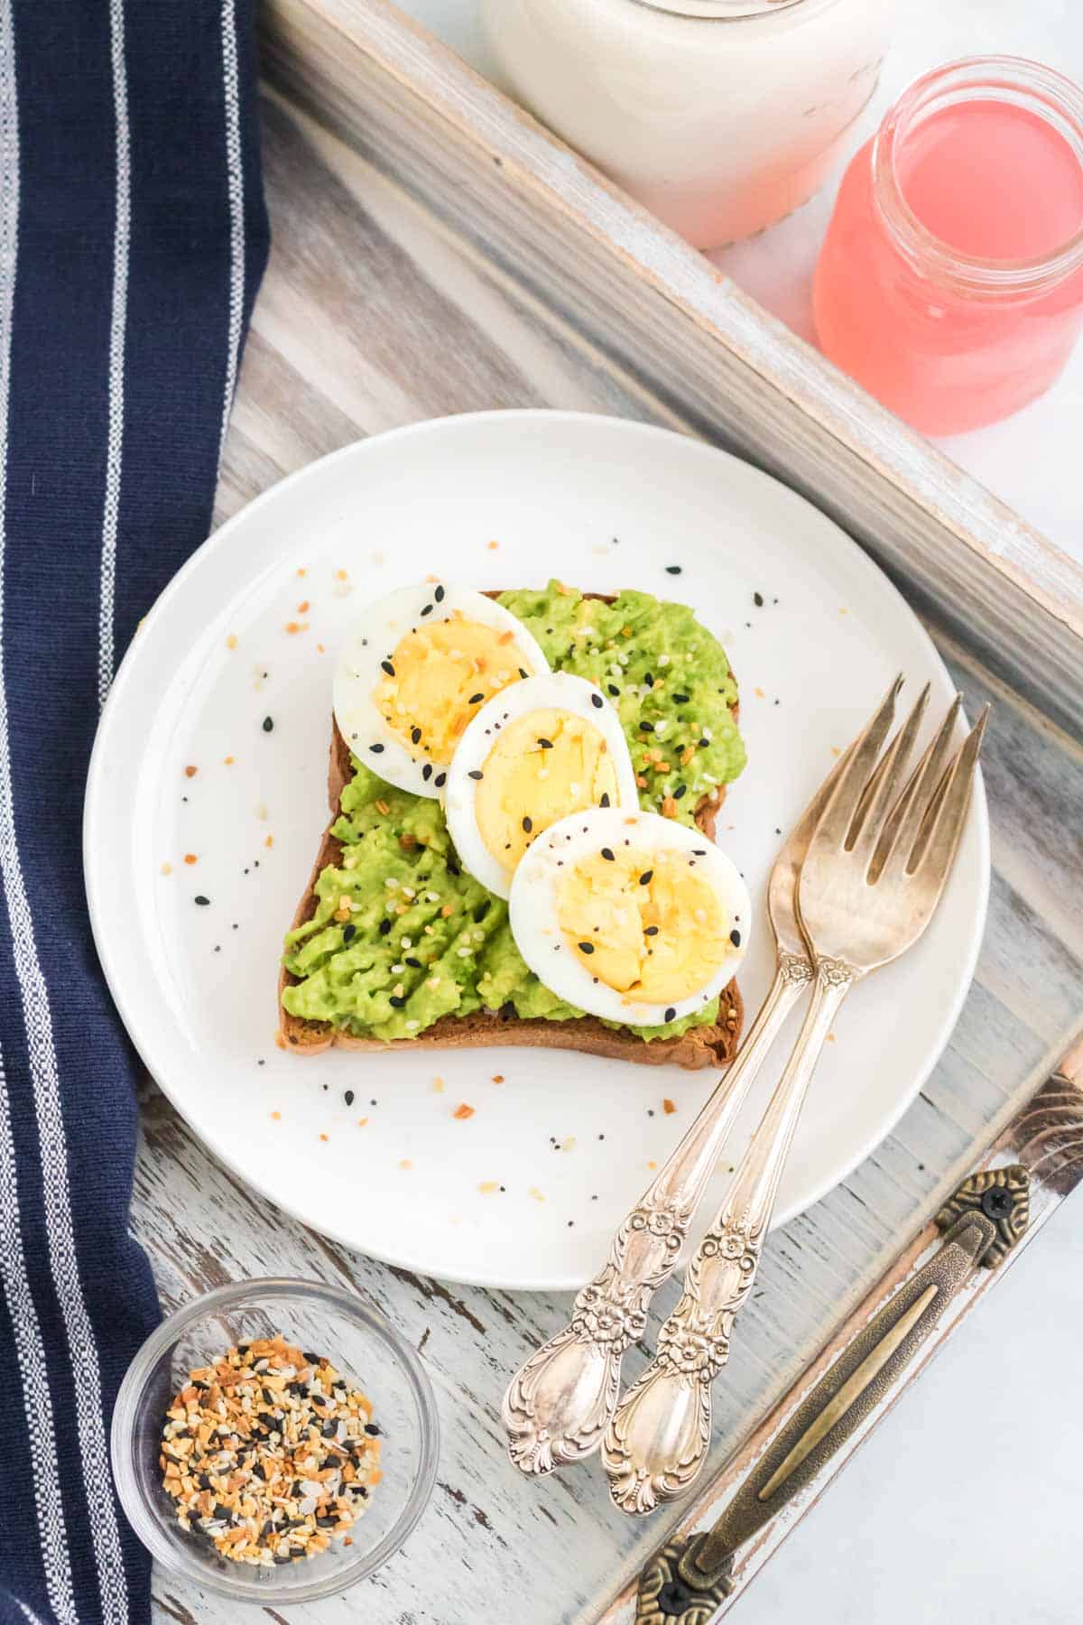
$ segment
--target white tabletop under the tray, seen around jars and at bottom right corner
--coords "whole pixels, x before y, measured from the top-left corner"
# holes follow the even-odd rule
[[[403,3],[487,68],[472,0]],[[1039,57],[1083,78],[1083,11],[1072,0],[913,0],[856,145],[909,78],[977,50]],[[833,190],[718,257],[804,336]],[[1046,400],[945,448],[1083,557],[1081,431],[1083,346]],[[1026,1269],[1008,1272],[750,1588],[734,1615],[742,1625],[1078,1622],[1081,1224],[1077,1194],[1028,1251]]]

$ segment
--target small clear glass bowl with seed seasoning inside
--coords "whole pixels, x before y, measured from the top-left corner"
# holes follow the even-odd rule
[[[151,1555],[235,1601],[313,1602],[375,1573],[421,1518],[438,1420],[414,1349],[354,1292],[218,1287],[120,1384],[112,1466]]]

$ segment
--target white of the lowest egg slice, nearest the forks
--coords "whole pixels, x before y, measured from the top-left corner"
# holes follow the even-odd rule
[[[684,999],[669,1004],[630,999],[617,988],[596,982],[576,957],[557,918],[557,884],[562,876],[602,847],[615,850],[630,843],[640,852],[677,852],[695,858],[700,878],[706,878],[724,913],[739,934],[708,982]],[[552,824],[541,840],[526,852],[511,879],[508,897],[511,934],[529,968],[557,998],[575,1004],[602,1020],[628,1027],[662,1027],[701,1009],[731,980],[745,956],[752,905],[737,868],[698,829],[688,829],[658,812],[614,811],[596,808],[573,812]]]

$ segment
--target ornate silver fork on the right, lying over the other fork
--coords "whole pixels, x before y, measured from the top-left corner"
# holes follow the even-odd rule
[[[797,1045],[692,1258],[658,1354],[606,1432],[609,1492],[625,1513],[682,1495],[711,1436],[711,1383],[729,1357],[752,1290],[778,1183],[820,1050],[839,1004],[869,972],[898,959],[929,925],[951,871],[989,707],[948,765],[960,700],[903,786],[926,689],[877,764],[898,684],[843,762],[809,840],[797,886],[815,986]],[[901,790],[901,793],[900,793]]]

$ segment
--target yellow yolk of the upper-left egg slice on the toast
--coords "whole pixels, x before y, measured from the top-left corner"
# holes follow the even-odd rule
[[[372,700],[411,751],[450,762],[479,705],[529,674],[520,660],[513,632],[455,613],[396,644]]]

